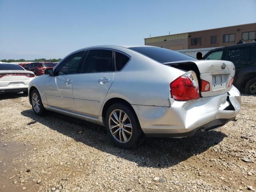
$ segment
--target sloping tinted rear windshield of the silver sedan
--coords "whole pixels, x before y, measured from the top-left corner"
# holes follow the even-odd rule
[[[160,47],[130,47],[129,49],[148,56],[149,58],[152,58],[160,63],[196,60],[188,55]]]

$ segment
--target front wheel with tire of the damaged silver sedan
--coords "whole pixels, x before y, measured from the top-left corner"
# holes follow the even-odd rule
[[[34,110],[34,113],[39,116],[44,115],[45,108],[42,104],[42,100],[38,90],[32,91],[32,93],[30,94],[30,100],[32,103],[32,108]]]

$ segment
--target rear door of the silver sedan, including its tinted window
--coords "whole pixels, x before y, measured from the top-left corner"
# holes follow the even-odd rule
[[[89,50],[82,72],[74,80],[76,112],[92,117],[99,116],[114,78],[113,54],[108,49]]]

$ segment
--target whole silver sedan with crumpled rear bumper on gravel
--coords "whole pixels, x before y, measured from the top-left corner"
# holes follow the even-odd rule
[[[192,136],[234,120],[234,74],[232,62],[159,47],[93,46],[32,80],[29,98],[37,115],[51,110],[106,126],[114,144],[130,148],[140,136]]]

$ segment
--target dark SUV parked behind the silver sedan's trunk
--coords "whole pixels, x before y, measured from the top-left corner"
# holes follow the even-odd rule
[[[233,85],[246,94],[256,94],[256,42],[216,48],[202,59],[233,62],[236,68]]]

